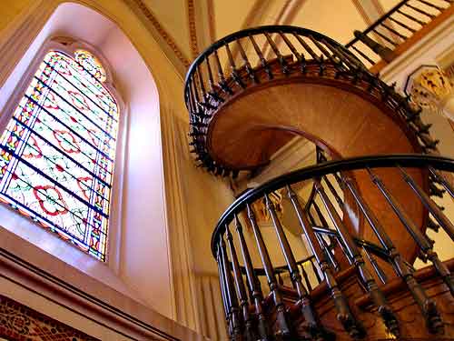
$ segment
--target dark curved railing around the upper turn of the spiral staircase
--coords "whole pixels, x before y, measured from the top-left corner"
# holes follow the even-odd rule
[[[264,51],[269,47],[269,54]],[[425,152],[436,149],[429,125],[419,109],[400,96],[393,86],[371,74],[360,59],[331,38],[301,27],[261,26],[228,35],[206,49],[192,63],[185,80],[184,99],[190,115],[191,152],[196,162],[220,176],[237,176],[216,161],[209,151],[209,126],[218,108],[245,89],[285,79],[305,77],[306,82],[350,84],[387,105],[400,120],[406,120]],[[336,83],[337,84],[337,83]]]

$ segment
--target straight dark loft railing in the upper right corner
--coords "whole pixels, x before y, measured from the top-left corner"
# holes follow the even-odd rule
[[[355,38],[345,47],[368,68],[380,59],[390,63],[395,50],[411,36],[445,12],[452,0],[403,0],[364,31],[355,31]]]

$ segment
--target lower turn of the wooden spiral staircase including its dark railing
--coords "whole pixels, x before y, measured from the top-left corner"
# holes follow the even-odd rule
[[[357,157],[274,178],[239,197],[212,234],[232,340],[454,340],[454,261],[440,261],[408,207],[381,178],[380,169],[389,168],[396,169],[413,200],[429,210],[452,246],[452,221],[416,184],[410,170],[428,172],[438,190],[454,199],[454,188],[444,177],[454,172],[454,160],[428,155]],[[380,212],[360,195],[351,177],[359,170],[368,174],[367,181],[386,200],[389,213],[398,217],[393,228],[399,236],[390,235]],[[297,185],[308,181],[315,194],[305,203]],[[339,182],[337,194],[332,182]],[[279,212],[271,197],[276,191],[287,197],[291,209]],[[349,217],[341,208],[347,193],[369,221],[374,239],[350,233]],[[266,206],[274,240],[264,237],[267,227],[259,223],[257,201]],[[291,243],[286,216],[293,216],[292,224],[299,226],[309,246],[311,256],[303,261],[296,262],[298,246]],[[407,235],[431,266],[416,271],[399,252],[400,238]],[[276,266],[276,248],[285,266]]]

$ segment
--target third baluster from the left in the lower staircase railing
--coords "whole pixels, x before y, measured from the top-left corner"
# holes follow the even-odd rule
[[[263,300],[262,288],[260,285],[259,278],[257,278],[253,269],[251,255],[249,253],[248,246],[246,245],[244,235],[242,234],[242,225],[240,223],[240,219],[238,219],[238,216],[235,216],[235,228],[238,240],[240,242],[240,247],[242,249],[242,259],[244,262],[244,267],[246,269],[246,277],[248,280],[249,290],[254,301],[255,314],[258,317],[259,336],[261,337],[262,341],[270,341],[271,340],[270,327],[267,325],[267,319],[263,312],[262,306]]]

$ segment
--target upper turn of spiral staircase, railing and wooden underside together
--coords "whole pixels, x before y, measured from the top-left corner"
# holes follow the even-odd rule
[[[214,43],[192,64],[184,95],[192,152],[215,175],[236,176],[267,165],[294,135],[305,136],[337,159],[436,151],[429,125],[421,122],[408,98],[370,74],[342,45],[300,27],[262,26]],[[419,186],[429,188],[427,174],[410,172]],[[366,181],[368,175],[358,171],[352,176],[380,220],[399,224]],[[399,172],[382,169],[380,176],[424,230],[427,211],[410,199]],[[351,199],[347,203],[352,205],[347,208],[350,231],[370,238],[358,207]],[[410,237],[402,238],[398,248],[415,258]]]

